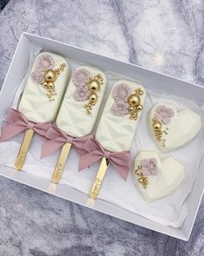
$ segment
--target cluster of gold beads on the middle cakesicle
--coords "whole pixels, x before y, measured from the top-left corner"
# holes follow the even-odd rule
[[[99,91],[100,86],[103,84],[103,81],[103,77],[100,74],[98,74],[93,78],[89,77],[89,81],[86,82],[86,86],[89,90],[89,102],[85,104],[84,107],[86,108],[87,114],[91,114],[92,107],[96,105],[96,102],[98,101],[97,91]]]

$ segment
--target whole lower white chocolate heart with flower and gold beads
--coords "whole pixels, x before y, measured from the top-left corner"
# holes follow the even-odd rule
[[[172,193],[184,178],[184,167],[173,157],[161,160],[156,151],[137,154],[132,179],[144,200],[158,200]]]

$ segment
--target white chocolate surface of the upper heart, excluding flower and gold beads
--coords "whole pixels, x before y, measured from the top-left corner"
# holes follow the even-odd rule
[[[152,119],[155,116],[156,108],[160,105],[164,105],[166,108],[172,108],[175,112],[175,115],[171,117],[169,124],[162,124],[162,129],[168,128],[168,135],[163,134],[163,138],[166,140],[165,147],[163,147],[161,141],[156,139],[154,129],[152,128]],[[174,150],[175,148],[179,148],[188,141],[194,139],[195,135],[197,135],[201,129],[201,116],[196,114],[190,108],[184,108],[177,112],[175,104],[173,103],[157,103],[148,115],[148,128],[156,146],[161,152],[165,153]]]

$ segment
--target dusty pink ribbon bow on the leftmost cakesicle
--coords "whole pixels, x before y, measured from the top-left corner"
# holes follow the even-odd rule
[[[22,133],[26,129],[32,129],[36,134],[44,136],[51,127],[50,122],[35,123],[14,108],[10,108],[5,121],[8,123],[1,129],[0,141],[7,141],[10,138]]]

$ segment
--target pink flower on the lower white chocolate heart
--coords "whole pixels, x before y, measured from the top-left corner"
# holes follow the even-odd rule
[[[156,158],[143,159],[140,162],[142,166],[142,172],[145,176],[156,175],[159,172]]]

